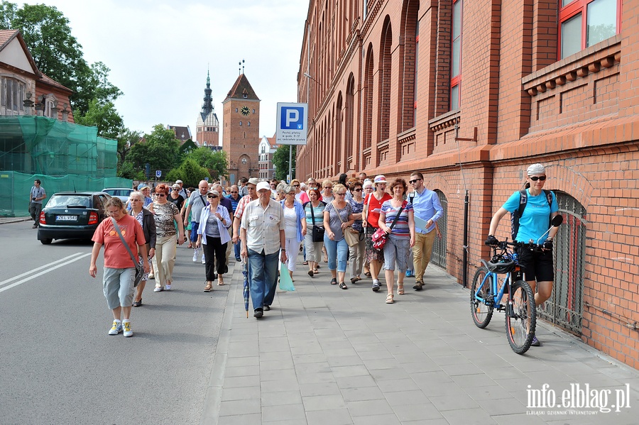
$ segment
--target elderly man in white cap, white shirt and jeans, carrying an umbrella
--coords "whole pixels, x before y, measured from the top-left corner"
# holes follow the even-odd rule
[[[259,319],[271,309],[278,282],[278,253],[287,260],[284,236],[284,211],[271,199],[268,182],[257,185],[258,199],[246,204],[241,219],[241,256],[249,259],[249,282],[253,299],[253,317]]]

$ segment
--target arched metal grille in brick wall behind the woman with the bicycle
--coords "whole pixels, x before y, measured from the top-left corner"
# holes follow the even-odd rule
[[[564,223],[555,236],[555,284],[552,296],[537,307],[537,314],[569,332],[581,335],[584,308],[586,209],[569,194],[555,191]]]

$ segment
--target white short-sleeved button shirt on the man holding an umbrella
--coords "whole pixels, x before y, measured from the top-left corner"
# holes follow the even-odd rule
[[[268,199],[266,208],[260,199],[246,204],[241,227],[246,229],[246,248],[266,255],[280,250],[280,230],[284,230],[284,211],[279,202]]]

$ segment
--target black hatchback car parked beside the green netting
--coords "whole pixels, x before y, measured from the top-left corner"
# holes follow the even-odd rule
[[[40,213],[38,240],[48,245],[53,239],[91,239],[107,218],[104,192],[60,192],[54,194]]]

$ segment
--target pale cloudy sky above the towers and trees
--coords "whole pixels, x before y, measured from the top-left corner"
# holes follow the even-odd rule
[[[69,20],[87,62],[104,62],[123,96],[114,104],[124,125],[190,126],[202,110],[207,68],[222,132],[222,101],[238,62],[261,99],[260,135],[275,133],[278,102],[297,101],[305,0],[40,0]],[[222,135],[219,142],[222,143]]]

